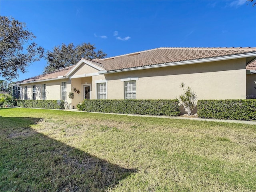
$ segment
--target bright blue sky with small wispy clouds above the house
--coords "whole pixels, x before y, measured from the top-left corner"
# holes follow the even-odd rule
[[[256,47],[256,6],[245,0],[1,0],[0,14],[26,23],[46,50],[90,42],[110,57],[157,47]],[[34,62],[17,80],[45,66]]]

